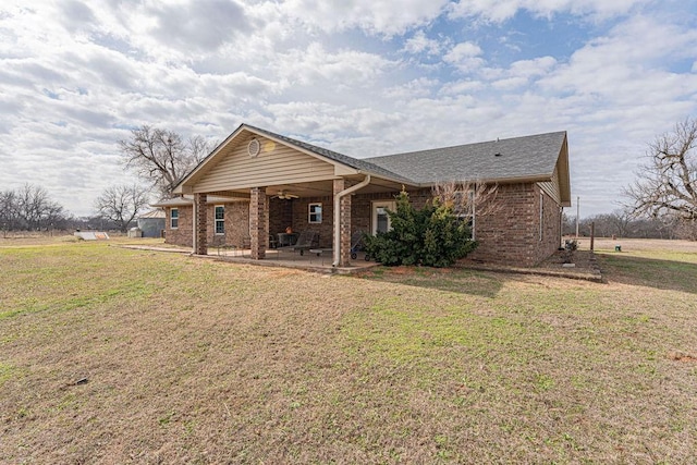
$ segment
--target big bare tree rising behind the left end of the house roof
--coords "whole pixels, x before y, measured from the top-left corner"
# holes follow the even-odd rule
[[[210,151],[201,136],[184,140],[172,131],[148,125],[133,130],[131,138],[120,140],[119,146],[126,167],[162,198],[170,197],[174,186]]]

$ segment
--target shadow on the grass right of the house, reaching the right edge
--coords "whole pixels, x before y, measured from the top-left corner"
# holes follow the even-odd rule
[[[612,253],[596,256],[609,283],[697,294],[697,264]]]

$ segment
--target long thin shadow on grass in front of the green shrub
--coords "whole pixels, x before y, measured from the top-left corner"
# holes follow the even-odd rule
[[[481,297],[494,297],[503,286],[500,274],[461,268],[378,267],[356,278]]]

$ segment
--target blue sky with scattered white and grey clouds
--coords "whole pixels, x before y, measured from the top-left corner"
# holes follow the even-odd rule
[[[133,127],[221,140],[246,122],[357,158],[567,131],[586,217],[696,115],[697,0],[0,7],[0,191],[40,185],[75,215],[133,181]]]

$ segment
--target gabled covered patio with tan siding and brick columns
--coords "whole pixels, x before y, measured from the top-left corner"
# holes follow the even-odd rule
[[[174,194],[191,199],[196,255],[218,254],[222,248],[225,255],[221,256],[231,259],[241,256],[350,268],[353,261],[360,261],[351,259],[352,234],[371,232],[374,201],[393,200],[404,185],[409,186],[408,180],[363,164],[243,125]],[[354,205],[357,195],[362,201]],[[296,235],[286,236],[290,231]],[[304,233],[317,238],[306,248],[315,253],[284,257],[276,252],[274,246]]]

